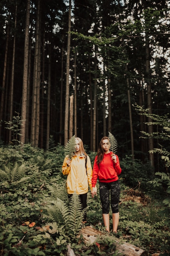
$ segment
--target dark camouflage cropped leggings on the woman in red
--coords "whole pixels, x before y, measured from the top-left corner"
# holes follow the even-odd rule
[[[111,204],[112,213],[119,212],[120,184],[119,180],[115,182],[99,182],[100,200],[102,202],[102,213],[108,214]],[[109,195],[111,201],[109,203]]]

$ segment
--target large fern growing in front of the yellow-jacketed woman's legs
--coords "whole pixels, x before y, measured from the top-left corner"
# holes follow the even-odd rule
[[[48,214],[44,216],[53,221],[48,224],[52,228],[59,227],[60,235],[67,236],[69,240],[77,236],[81,229],[84,213],[86,212],[86,209],[82,210],[81,200],[77,194],[73,194],[68,205],[57,198],[52,200],[45,209]],[[55,227],[53,223],[55,223]]]

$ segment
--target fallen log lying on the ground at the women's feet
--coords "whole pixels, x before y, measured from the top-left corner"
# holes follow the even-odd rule
[[[90,226],[86,226],[82,228],[79,233],[80,233],[79,237],[82,234],[86,245],[95,243],[98,236],[104,235],[104,233],[102,233],[101,231],[93,229],[93,227],[90,227]],[[116,250],[118,250],[124,256],[148,256],[148,252],[134,245],[131,245],[129,243],[125,243],[121,240],[117,240],[116,238],[115,238],[115,243],[116,243]]]

